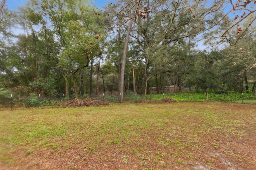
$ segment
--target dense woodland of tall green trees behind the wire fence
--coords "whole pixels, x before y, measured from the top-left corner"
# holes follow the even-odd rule
[[[0,97],[254,93],[255,0],[0,3]]]

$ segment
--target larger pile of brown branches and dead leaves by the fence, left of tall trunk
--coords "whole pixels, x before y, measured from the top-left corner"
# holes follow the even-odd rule
[[[61,102],[61,103],[63,103],[63,102]],[[70,101],[66,101],[63,104],[63,106],[65,106],[65,107],[103,106],[103,105],[108,105],[108,102],[92,100],[92,99],[73,99]]]

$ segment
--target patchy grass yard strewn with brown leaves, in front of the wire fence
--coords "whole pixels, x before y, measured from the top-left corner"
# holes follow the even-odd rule
[[[254,169],[256,105],[0,111],[0,169]]]

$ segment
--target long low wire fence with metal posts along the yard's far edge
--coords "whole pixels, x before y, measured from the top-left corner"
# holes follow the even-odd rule
[[[137,94],[124,95],[124,103],[150,103],[150,102],[173,102],[173,101],[234,101],[242,100],[242,94],[215,94],[211,93],[163,93],[149,94],[146,97]],[[27,107],[72,107],[72,106],[87,106],[87,105],[106,105],[109,103],[120,103],[120,95],[80,95],[78,99],[75,96],[65,95],[41,95],[30,94],[29,96],[14,96],[0,98],[0,108],[15,109]]]

